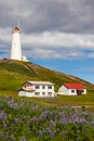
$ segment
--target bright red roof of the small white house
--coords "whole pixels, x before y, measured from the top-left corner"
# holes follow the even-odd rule
[[[64,86],[67,87],[68,89],[86,89],[85,86],[83,86],[82,84],[65,82]]]

